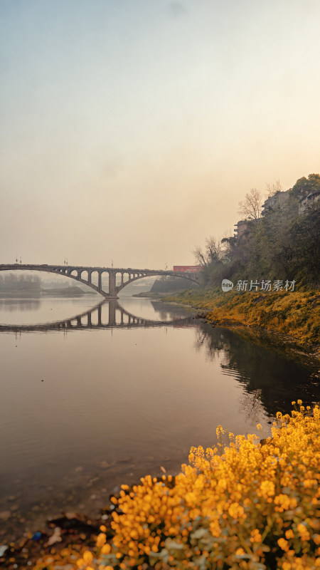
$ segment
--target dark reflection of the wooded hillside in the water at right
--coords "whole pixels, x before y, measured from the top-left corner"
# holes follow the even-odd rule
[[[312,405],[320,400],[316,368],[306,366],[280,348],[274,348],[264,336],[231,331],[227,328],[201,326],[196,330],[196,351],[206,360],[220,361],[224,375],[232,376],[244,391],[240,404],[247,418],[258,420],[263,405],[267,415],[292,410],[292,400]]]

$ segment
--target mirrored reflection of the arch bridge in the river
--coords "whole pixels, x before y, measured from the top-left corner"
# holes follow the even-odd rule
[[[131,314],[115,299],[102,301],[91,309],[62,321],[49,323],[6,325],[0,324],[0,332],[71,331],[100,328],[154,328],[156,326],[184,326],[194,323],[192,316],[176,317],[169,321],[156,321]]]

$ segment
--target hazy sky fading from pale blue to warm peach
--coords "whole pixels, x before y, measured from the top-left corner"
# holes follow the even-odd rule
[[[164,269],[320,171],[319,0],[0,0],[0,263]]]

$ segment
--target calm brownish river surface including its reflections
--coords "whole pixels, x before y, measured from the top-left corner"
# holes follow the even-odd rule
[[[238,434],[259,422],[266,437],[278,409],[320,399],[311,368],[191,309],[97,302],[0,299],[0,524],[11,535],[61,510],[95,514],[114,487],[161,466],[178,472],[191,446],[215,444],[218,424]]]

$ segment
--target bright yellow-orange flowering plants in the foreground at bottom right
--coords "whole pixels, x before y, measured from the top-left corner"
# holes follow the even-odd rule
[[[265,445],[230,434],[193,447],[175,480],[122,485],[112,515],[78,570],[320,569],[320,410],[277,414]],[[221,441],[222,428],[218,427]]]

